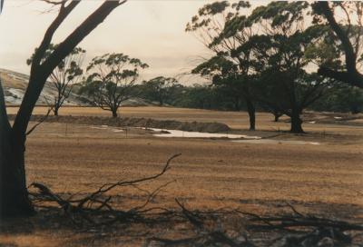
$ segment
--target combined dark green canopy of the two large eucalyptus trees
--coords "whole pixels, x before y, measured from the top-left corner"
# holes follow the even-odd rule
[[[307,2],[271,2],[249,16],[240,12],[246,7],[250,5],[244,2],[216,2],[191,19],[187,31],[214,52],[191,73],[210,79],[211,90],[226,100],[258,100],[299,124],[302,110],[318,100],[330,83],[309,68],[340,67],[340,48],[326,25],[307,20],[311,13]],[[294,127],[299,131],[298,125]]]

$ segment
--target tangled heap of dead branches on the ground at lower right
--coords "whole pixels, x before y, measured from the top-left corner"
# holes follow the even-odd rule
[[[178,200],[176,203],[180,206],[184,219],[191,223],[194,235],[182,239],[153,237],[148,240],[149,245],[151,242],[158,242],[162,246],[260,246],[256,241],[261,239],[256,238],[256,233],[263,232],[266,235],[275,232],[279,237],[271,242],[271,238],[266,236],[263,240],[266,246],[351,246],[358,235],[353,237],[348,234],[351,232],[346,231],[363,231],[363,225],[306,215],[289,203],[287,206],[292,215],[271,217],[240,210],[191,211]],[[241,215],[240,221],[246,220],[246,216],[248,221],[244,225],[244,231],[239,229],[240,231],[231,234],[219,221],[226,215],[237,216],[233,212]]]

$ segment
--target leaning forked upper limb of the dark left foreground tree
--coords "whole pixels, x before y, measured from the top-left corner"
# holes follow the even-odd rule
[[[19,144],[25,143],[25,132],[34,109],[34,105],[44,88],[46,79],[53,72],[54,68],[60,64],[68,54],[71,54],[76,45],[79,44],[85,36],[89,35],[95,27],[100,25],[114,8],[125,2],[126,1],[103,2],[103,5],[96,9],[93,14],[89,15],[82,25],[79,25],[74,32],[64,40],[64,42],[55,48],[54,52],[49,55],[43,64],[37,66],[35,64],[39,64],[41,61],[44,49],[46,50],[46,48],[48,48],[54,32],[64,21],[65,17],[69,15],[76,5],[79,4],[79,1],[72,1],[69,5],[64,6],[64,8],[60,11],[59,15],[55,18],[54,22],[44,35],[44,40],[39,46],[38,52],[34,55],[29,85],[26,89],[23,102],[20,105],[19,112],[15,117],[15,123],[13,125],[15,138]]]

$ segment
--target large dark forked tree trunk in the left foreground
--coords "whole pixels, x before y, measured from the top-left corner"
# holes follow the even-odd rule
[[[29,84],[22,104],[15,116],[13,125],[6,114],[5,97],[0,85],[0,216],[12,217],[30,215],[34,208],[28,198],[25,179],[25,141],[26,129],[36,101],[41,94],[46,79],[54,68],[71,54],[74,48],[89,35],[94,28],[103,23],[115,8],[126,1],[104,1],[91,15],[83,20],[63,42],[44,59],[44,53],[52,42],[54,33],[82,1],[46,1],[59,6],[59,12],[47,28],[41,44],[36,49],[30,69]]]

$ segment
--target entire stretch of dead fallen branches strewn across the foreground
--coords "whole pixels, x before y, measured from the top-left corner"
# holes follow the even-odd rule
[[[162,232],[148,238],[145,246],[157,243],[162,246],[259,246],[254,234],[276,233],[279,237],[270,242],[269,246],[350,246],[358,236],[355,232],[363,232],[363,225],[322,218],[299,212],[287,203],[290,214],[282,216],[261,216],[256,213],[240,210],[219,209],[213,211],[190,210],[179,200],[175,199],[180,210],[162,207],[148,207],[162,188],[169,183],[163,183],[152,192],[140,187],[141,183],[158,179],[170,169],[170,163],[181,154],[173,155],[163,166],[162,171],[152,176],[135,180],[122,180],[117,183],[103,184],[93,193],[80,197],[73,194],[64,196],[53,193],[42,183],[32,183],[31,187],[38,193],[31,193],[35,204],[56,203],[67,218],[74,225],[87,227],[111,226],[113,223],[144,223],[148,226],[155,223],[182,223],[189,225],[191,234],[184,238],[167,238]],[[113,207],[113,195],[109,195],[115,188],[132,187],[146,193],[146,200],[138,206],[128,210]],[[222,219],[234,217],[239,227],[227,225]],[[231,223],[231,222],[227,222]],[[329,245],[330,244],[330,245]],[[153,246],[153,245],[152,245]]]

